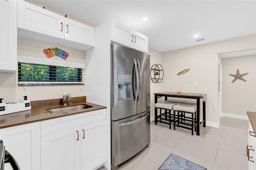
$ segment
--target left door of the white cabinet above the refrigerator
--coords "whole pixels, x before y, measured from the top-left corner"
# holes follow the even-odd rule
[[[133,30],[111,20],[111,40],[128,47],[132,47],[134,42]]]

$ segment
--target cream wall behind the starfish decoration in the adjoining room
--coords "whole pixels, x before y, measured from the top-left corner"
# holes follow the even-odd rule
[[[246,81],[240,79],[234,83],[239,69]],[[256,55],[230,57],[222,59],[222,113],[246,116],[246,111],[256,112]]]

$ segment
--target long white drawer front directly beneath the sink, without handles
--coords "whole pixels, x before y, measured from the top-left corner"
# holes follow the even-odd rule
[[[85,125],[103,119],[106,119],[106,109],[42,121],[41,136],[60,132],[72,125]]]

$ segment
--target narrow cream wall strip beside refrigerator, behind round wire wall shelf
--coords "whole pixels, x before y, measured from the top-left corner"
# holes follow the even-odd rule
[[[148,54],[150,55],[150,68],[154,64],[163,64],[162,63],[162,52],[156,51],[155,49],[148,48]],[[164,69],[164,68],[163,68]],[[165,77],[164,77],[165,78]],[[150,80],[150,116],[155,115],[155,96],[154,93],[162,92],[163,83],[153,83]]]

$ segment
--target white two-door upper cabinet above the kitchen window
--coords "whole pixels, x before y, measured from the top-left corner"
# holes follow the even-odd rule
[[[18,36],[87,50],[94,47],[94,28],[18,0]]]

